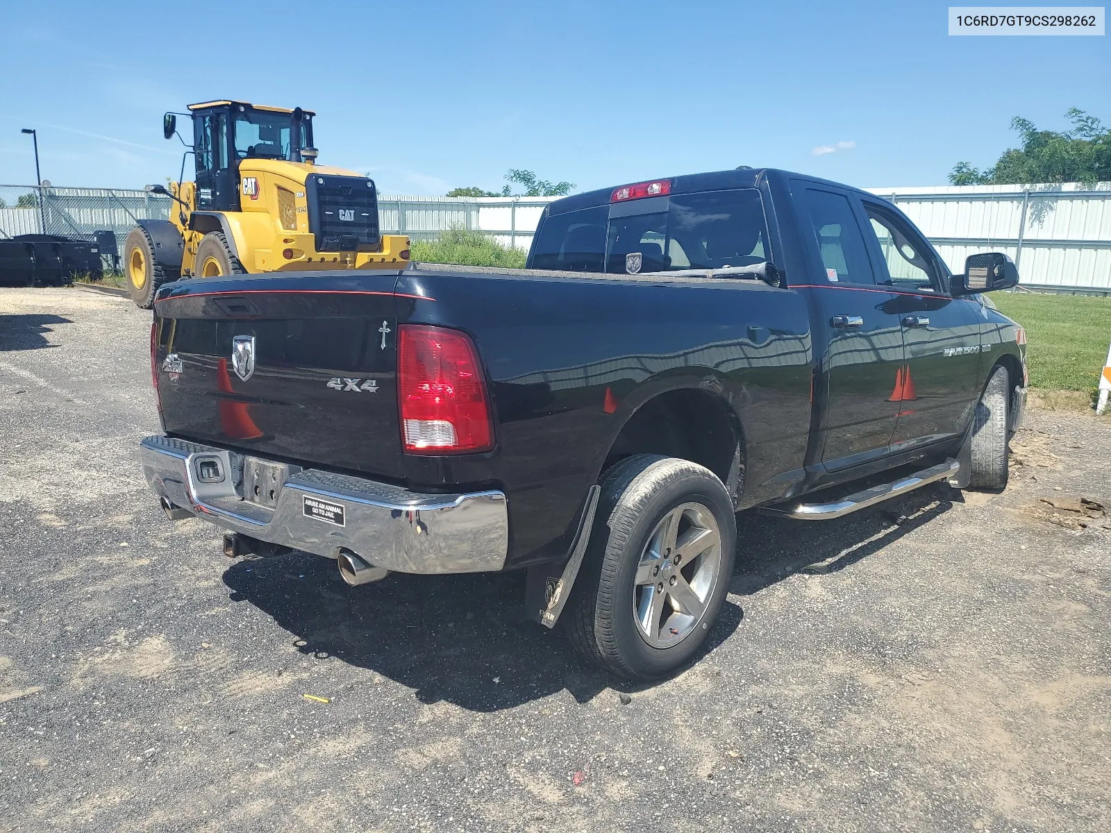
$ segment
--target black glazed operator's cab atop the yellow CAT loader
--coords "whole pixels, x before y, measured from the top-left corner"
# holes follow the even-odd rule
[[[190,104],[193,154],[197,160],[197,208],[239,211],[239,165],[244,159],[303,161],[312,148],[312,117],[300,108],[288,110],[238,101]]]

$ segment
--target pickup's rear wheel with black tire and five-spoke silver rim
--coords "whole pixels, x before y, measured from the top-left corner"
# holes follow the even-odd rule
[[[673,522],[670,541],[678,545],[669,559]],[[709,635],[735,552],[733,504],[713,472],[657,454],[622,460],[602,480],[594,529],[563,614],[572,645],[625,680],[672,673]]]

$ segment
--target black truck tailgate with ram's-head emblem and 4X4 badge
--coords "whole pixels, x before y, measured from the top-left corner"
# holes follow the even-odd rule
[[[169,434],[401,476],[396,272],[183,281],[154,305]]]

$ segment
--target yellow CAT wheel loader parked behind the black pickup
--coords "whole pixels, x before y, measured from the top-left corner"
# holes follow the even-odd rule
[[[170,219],[140,220],[123,244],[131,298],[141,308],[179,278],[408,263],[409,239],[379,233],[373,180],[316,163],[314,113],[208,101],[190,104],[188,114],[167,113],[167,139],[179,136],[179,114],[193,121],[186,157],[193,154],[194,181],[149,187],[172,198]],[[182,159],[182,173],[184,165]]]

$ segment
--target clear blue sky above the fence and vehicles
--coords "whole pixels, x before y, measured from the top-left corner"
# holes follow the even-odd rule
[[[0,183],[34,179],[24,127],[58,185],[177,177],[162,112],[213,98],[316,110],[321,162],[417,194],[509,168],[575,190],[739,164],[944,184],[1013,147],[1014,116],[1111,122],[1108,37],[951,38],[938,2],[4,7]]]

